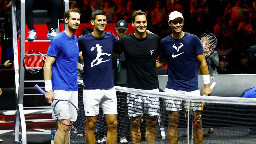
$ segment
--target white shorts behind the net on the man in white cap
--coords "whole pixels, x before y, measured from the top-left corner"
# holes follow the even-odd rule
[[[182,90],[174,90],[174,89],[168,89],[165,88],[166,93],[171,94],[184,94],[184,95],[191,95],[191,96],[199,96],[200,90],[195,91],[182,91]],[[192,110],[201,110],[201,105],[198,102],[192,102],[191,103]],[[175,100],[175,99],[166,99],[166,110],[167,111],[179,111],[182,110],[182,101],[181,100]]]

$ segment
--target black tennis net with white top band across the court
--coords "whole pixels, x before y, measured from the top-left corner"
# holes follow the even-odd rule
[[[256,127],[256,99],[174,95],[115,88],[118,108],[117,143],[121,143],[121,137],[125,137],[128,143],[132,139],[140,143],[155,139],[157,144],[252,144],[256,141],[256,131],[252,129]],[[169,110],[178,111],[171,113]],[[140,132],[131,133],[131,121],[135,119],[128,115],[140,116]],[[79,83],[79,119],[71,128],[70,144],[85,143],[85,120],[83,84]],[[135,127],[132,126],[132,129],[135,130]],[[146,133],[147,128],[151,128],[148,129],[149,133]],[[208,134],[209,128],[213,128],[214,133]],[[95,128],[96,142],[106,143],[106,133],[106,120],[100,108]],[[139,134],[140,139],[137,138]]]

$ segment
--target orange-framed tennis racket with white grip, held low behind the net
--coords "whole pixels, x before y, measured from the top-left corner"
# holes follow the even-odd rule
[[[216,82],[212,82],[210,88],[213,89],[213,87],[216,85]],[[196,125],[199,120],[202,118],[202,111],[203,111],[203,107],[204,107],[204,102],[199,102],[198,105],[201,107],[201,111],[198,111],[198,116],[194,116],[192,110],[190,110],[190,121],[192,123],[192,125]],[[185,119],[186,119],[186,122],[188,122],[188,104],[186,106],[186,111],[185,111]]]

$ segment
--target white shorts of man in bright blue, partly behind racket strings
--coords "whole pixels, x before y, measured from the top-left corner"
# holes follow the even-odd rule
[[[55,99],[62,99],[62,100],[68,100],[72,102],[76,108],[78,109],[78,91],[65,91],[65,90],[54,90],[53,91],[54,98]],[[52,101],[52,106],[55,106],[57,100]],[[60,116],[58,116],[59,119],[70,119],[71,121],[76,120],[77,116],[73,116],[70,118],[69,112],[76,111],[75,109],[71,109],[73,107],[69,107],[69,103],[67,101],[60,101],[56,105],[55,109],[56,111],[60,111]],[[52,107],[52,118],[56,120],[56,116],[53,111]]]

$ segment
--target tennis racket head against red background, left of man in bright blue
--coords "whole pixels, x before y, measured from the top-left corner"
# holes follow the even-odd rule
[[[23,57],[25,70],[33,74],[40,72],[44,67],[44,57],[46,56],[38,51],[28,51]]]

